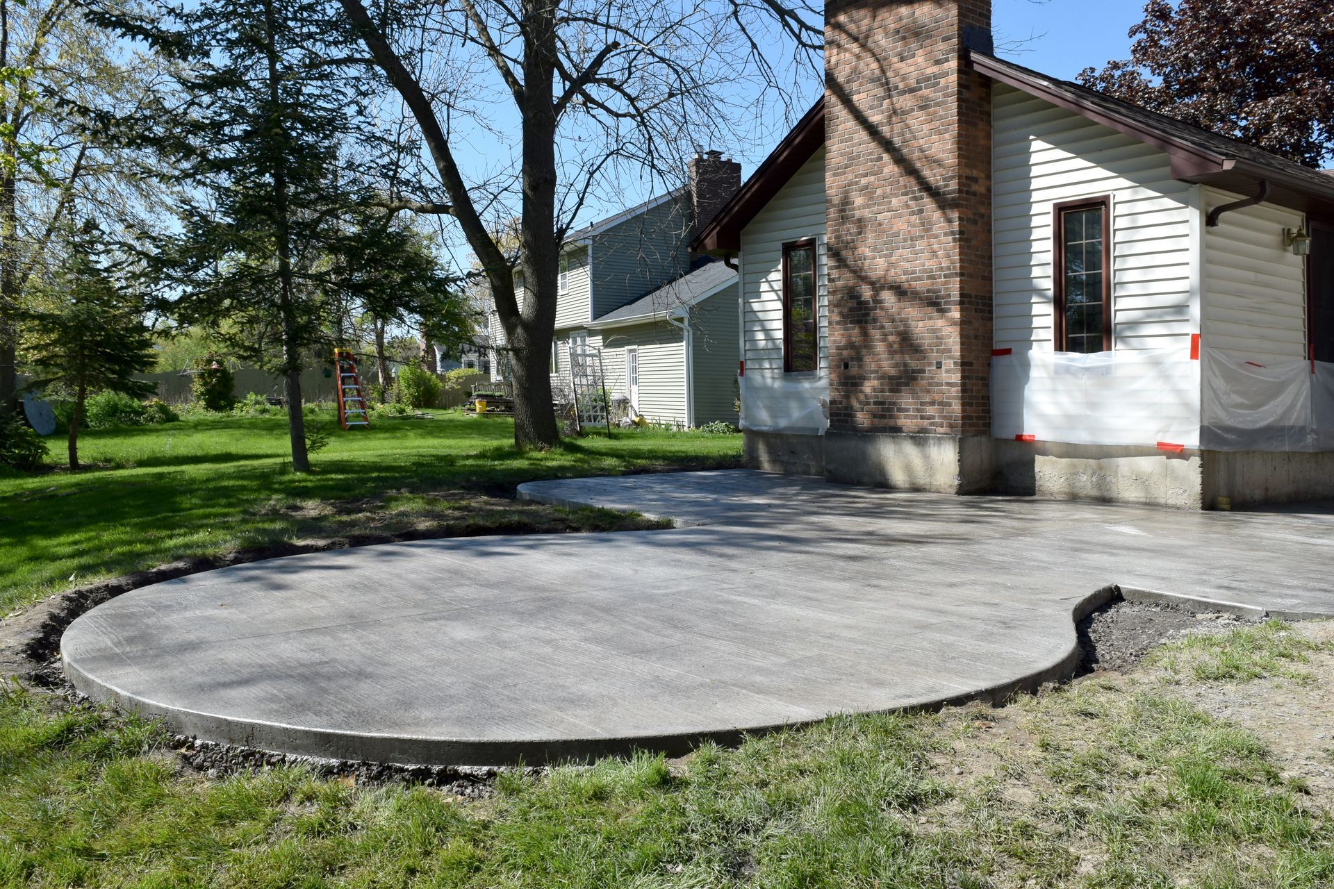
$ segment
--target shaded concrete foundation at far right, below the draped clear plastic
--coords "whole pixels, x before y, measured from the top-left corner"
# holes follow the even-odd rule
[[[1234,508],[1334,498],[1334,450],[1206,450],[1205,508],[1217,508],[1219,497]]]

